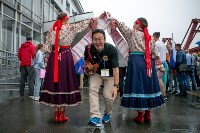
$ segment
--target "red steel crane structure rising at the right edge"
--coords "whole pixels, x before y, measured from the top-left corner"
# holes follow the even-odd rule
[[[196,36],[196,34],[200,32],[200,19],[192,19],[191,23],[190,23],[190,26],[183,38],[183,41],[182,41],[182,45],[184,45],[184,41],[186,39],[186,36],[188,35],[188,38],[185,42],[185,45],[183,47],[184,50],[188,49],[190,44],[192,43],[194,37]],[[198,53],[200,52],[200,47],[195,47],[195,48],[192,48],[192,49],[189,49],[190,53]]]

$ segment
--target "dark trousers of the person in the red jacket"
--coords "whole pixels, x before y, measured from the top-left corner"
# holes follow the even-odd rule
[[[20,96],[24,96],[24,89],[25,89],[25,83],[28,81],[28,87],[29,87],[29,96],[33,96],[34,91],[34,81],[35,81],[35,70],[33,66],[26,67],[21,66],[21,79],[20,79]],[[27,80],[28,78],[28,80]]]

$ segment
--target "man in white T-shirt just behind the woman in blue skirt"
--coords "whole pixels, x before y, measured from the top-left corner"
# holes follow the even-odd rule
[[[166,45],[159,40],[159,37],[160,37],[160,32],[154,32],[153,33],[153,37],[154,37],[154,40],[156,42],[156,46],[157,46],[157,49],[158,49],[158,52],[160,53],[160,60],[162,61],[164,67],[165,67],[165,73],[163,74],[162,76],[162,80],[163,80],[163,83],[164,83],[164,88],[165,88],[165,91],[166,91],[166,84],[167,84],[167,72],[168,72],[168,65],[167,65],[167,62],[166,62],[166,55],[167,55],[167,47]]]

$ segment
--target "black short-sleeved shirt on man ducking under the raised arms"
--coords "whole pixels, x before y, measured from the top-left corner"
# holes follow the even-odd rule
[[[113,68],[119,67],[117,49],[109,44],[104,44],[104,49],[99,53],[93,44],[90,46],[90,55],[88,56],[88,45],[85,47],[84,60],[89,60],[92,64],[98,63],[97,74],[101,74],[101,69],[109,69],[109,75],[113,76]],[[103,56],[108,60],[104,61]]]

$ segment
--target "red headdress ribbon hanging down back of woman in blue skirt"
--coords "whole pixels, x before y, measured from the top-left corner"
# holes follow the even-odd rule
[[[139,19],[136,20],[136,22],[144,29],[144,37],[145,37],[145,61],[146,61],[146,67],[147,67],[147,75],[151,77],[151,58],[150,58],[150,40],[151,36],[149,35],[148,28],[145,27]]]

